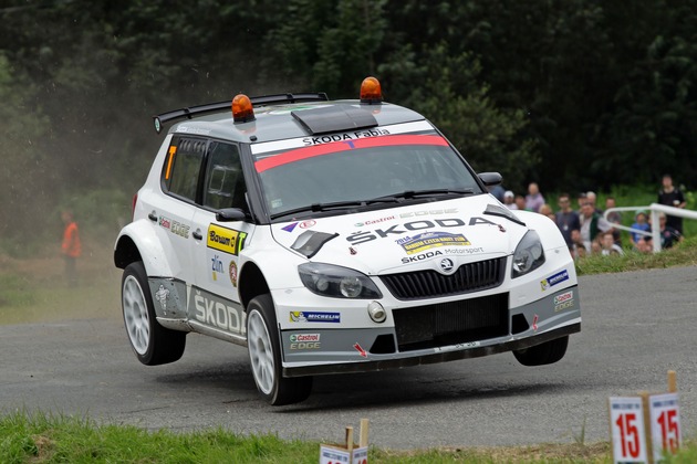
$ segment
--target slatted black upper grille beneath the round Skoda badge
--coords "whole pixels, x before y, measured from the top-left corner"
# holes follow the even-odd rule
[[[493,288],[503,282],[506,256],[462,264],[450,275],[416,271],[381,275],[383,284],[397,299],[434,298]]]

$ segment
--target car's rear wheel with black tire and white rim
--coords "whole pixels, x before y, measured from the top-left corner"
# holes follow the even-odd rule
[[[128,341],[146,366],[166,365],[181,358],[186,333],[159,325],[143,262],[128,264],[121,281],[121,305]]]

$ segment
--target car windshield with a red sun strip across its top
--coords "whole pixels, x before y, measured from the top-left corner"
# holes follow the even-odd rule
[[[439,135],[389,135],[264,155],[257,158],[256,168],[269,213],[277,218],[313,204],[360,205],[379,198],[412,198],[420,191],[482,192]]]

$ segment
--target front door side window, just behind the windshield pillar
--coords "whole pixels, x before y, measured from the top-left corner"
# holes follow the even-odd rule
[[[240,208],[247,210],[245,176],[237,145],[210,144],[206,167],[204,205],[216,210]]]

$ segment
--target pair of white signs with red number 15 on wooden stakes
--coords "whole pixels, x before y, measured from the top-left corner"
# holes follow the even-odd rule
[[[675,371],[668,371],[668,392],[608,399],[614,463],[659,463],[677,453],[682,442]]]

